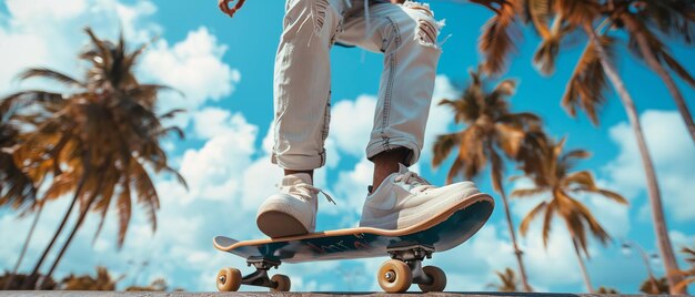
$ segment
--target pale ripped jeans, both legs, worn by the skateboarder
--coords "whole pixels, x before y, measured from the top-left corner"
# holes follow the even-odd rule
[[[363,0],[286,0],[275,58],[272,162],[285,170],[325,163],[331,117],[330,50],[335,42],[384,54],[367,158],[397,147],[417,162],[423,146],[441,23],[427,4]],[[369,20],[369,22],[367,22]]]

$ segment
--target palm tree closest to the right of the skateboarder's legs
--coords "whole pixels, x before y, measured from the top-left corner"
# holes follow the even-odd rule
[[[515,81],[504,80],[493,91],[487,91],[480,71],[480,69],[477,72],[471,71],[472,83],[460,99],[443,100],[440,103],[450,106],[454,111],[455,123],[465,124],[466,127],[437,136],[433,147],[432,165],[435,168],[442,165],[452,150],[459,146],[459,153],[455,154],[456,157],[446,176],[446,183],[452,183],[454,177],[461,175],[469,180],[480,175],[490,163],[493,188],[500,193],[504,202],[522,284],[526,291],[531,291],[502,181],[505,171],[504,156],[513,160],[523,158],[526,139],[543,137],[541,119],[532,113],[510,112],[506,99],[514,94]]]

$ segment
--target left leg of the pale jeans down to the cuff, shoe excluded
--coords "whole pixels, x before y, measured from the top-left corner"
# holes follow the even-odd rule
[[[272,162],[285,174],[325,163],[330,120],[330,48],[344,0],[288,0],[275,58]]]

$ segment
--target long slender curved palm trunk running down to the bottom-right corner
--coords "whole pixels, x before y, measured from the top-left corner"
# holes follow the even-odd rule
[[[654,221],[654,228],[656,233],[656,238],[658,240],[658,249],[661,252],[664,267],[666,269],[666,278],[668,279],[671,294],[686,294],[685,289],[677,290],[675,287],[675,285],[678,284],[679,279],[679,277],[674,274],[678,270],[678,265],[676,264],[676,258],[673,253],[673,246],[671,244],[671,239],[668,238],[668,228],[666,227],[666,219],[664,217],[664,207],[662,205],[658,183],[656,180],[656,171],[654,170],[654,163],[652,162],[652,157],[649,156],[649,151],[644,139],[644,133],[642,132],[642,125],[639,124],[637,110],[632,100],[632,96],[629,95],[627,89],[625,88],[625,84],[623,83],[623,80],[617,74],[617,70],[611,62],[605,49],[601,45],[596,32],[591,27],[591,24],[585,24],[584,30],[591,38],[592,42],[596,44],[596,52],[601,58],[601,64],[603,65],[606,75],[611,80],[613,88],[615,88],[618,98],[623,102],[623,106],[625,107],[625,111],[627,113],[627,119],[629,120],[633,132],[635,133],[635,139],[637,140],[637,147],[639,148],[639,154],[642,155],[642,164],[644,165],[644,172],[646,175],[649,204],[652,205],[652,219]]]

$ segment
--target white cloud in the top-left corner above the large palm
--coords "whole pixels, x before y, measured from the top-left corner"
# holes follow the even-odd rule
[[[161,28],[144,19],[157,11],[150,1],[123,4],[117,0],[54,1],[8,0],[8,21],[0,23],[0,90],[20,88],[11,83],[28,66],[49,66],[78,74],[77,54],[88,41],[83,28],[91,27],[100,37],[113,39],[122,27],[134,44],[149,41]],[[132,45],[132,44],[131,44]],[[17,59],[21,57],[21,59]],[[46,88],[43,82],[23,86]],[[53,85],[54,86],[54,85]]]

